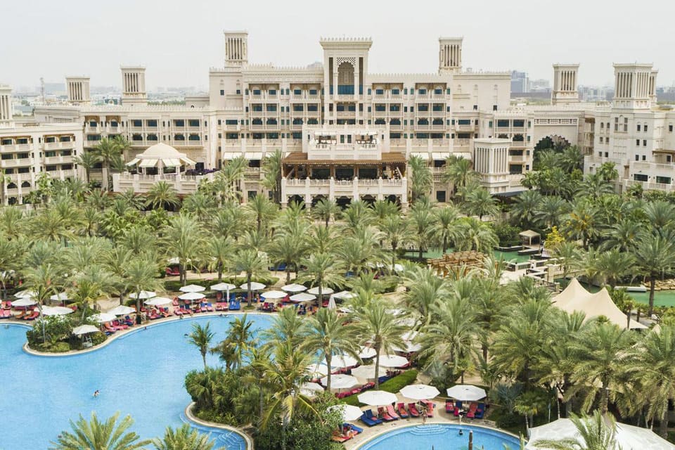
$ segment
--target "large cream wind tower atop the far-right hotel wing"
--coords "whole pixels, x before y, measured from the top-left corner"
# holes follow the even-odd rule
[[[651,108],[656,96],[656,72],[651,64],[615,64],[614,76],[615,108]]]

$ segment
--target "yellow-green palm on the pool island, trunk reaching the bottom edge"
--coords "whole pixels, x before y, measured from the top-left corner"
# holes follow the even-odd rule
[[[281,450],[286,449],[286,430],[293,423],[297,411],[319,416],[311,400],[300,391],[300,385],[309,375],[307,366],[310,361],[309,354],[294,347],[291,342],[278,342],[273,357],[260,361],[271,392],[274,392],[260,426],[266,428],[270,420],[281,420]]]

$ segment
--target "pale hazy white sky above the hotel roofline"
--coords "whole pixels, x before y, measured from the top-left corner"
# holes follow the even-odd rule
[[[89,75],[120,86],[142,64],[146,85],[207,86],[223,30],[249,32],[249,61],[307,65],[319,37],[373,38],[370,72],[435,72],[438,37],[463,36],[464,68],[525,70],[581,63],[580,84],[613,83],[612,62],[654,63],[675,81],[675,1],[0,0],[0,83],[37,86]]]

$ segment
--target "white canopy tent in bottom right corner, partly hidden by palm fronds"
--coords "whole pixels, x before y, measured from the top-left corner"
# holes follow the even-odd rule
[[[608,450],[675,450],[675,445],[648,428],[640,428],[625,423],[616,424],[616,445]],[[541,439],[579,439],[579,431],[570,419],[558,419],[546,425],[529,429],[529,441],[525,450],[544,450],[544,447],[536,446]]]

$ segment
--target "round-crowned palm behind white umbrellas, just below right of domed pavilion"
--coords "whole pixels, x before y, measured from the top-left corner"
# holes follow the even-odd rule
[[[178,258],[181,283],[187,281],[188,264],[203,254],[205,236],[201,224],[190,214],[178,214],[169,221],[164,230],[167,255]]]

